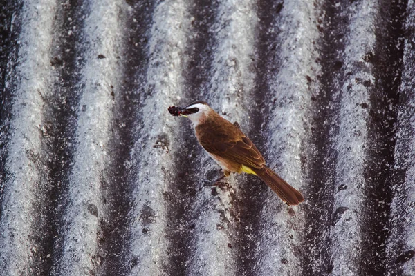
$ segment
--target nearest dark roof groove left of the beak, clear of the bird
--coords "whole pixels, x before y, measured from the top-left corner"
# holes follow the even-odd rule
[[[118,152],[107,165],[108,181],[104,182],[104,200],[109,210],[107,220],[100,222],[102,228],[103,264],[101,275],[128,275],[133,258],[129,255],[131,224],[134,218],[133,190],[136,176],[135,160],[131,156],[138,133],[139,110],[142,106],[140,90],[148,66],[147,30],[151,26],[153,3],[141,1],[122,7],[122,85],[113,90],[115,99],[114,119],[111,122],[110,152]]]

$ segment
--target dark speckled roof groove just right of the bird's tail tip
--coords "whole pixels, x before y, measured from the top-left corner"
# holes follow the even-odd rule
[[[340,53],[344,50],[344,28],[347,26],[347,14],[342,12],[343,5],[336,6],[334,1],[322,1],[318,12],[317,28],[320,37],[316,43],[319,51],[317,63],[322,68],[317,75],[315,88],[312,91],[313,101],[312,121],[309,132],[309,167],[308,193],[309,202],[306,204],[306,225],[309,225],[304,235],[303,243],[308,244],[302,262],[304,275],[320,275],[333,270],[329,229],[332,224],[333,197],[337,193],[333,186],[334,164],[337,154],[331,144],[334,135],[336,118],[333,112],[338,109],[335,101],[336,90],[340,88],[339,75],[344,69],[344,60]],[[342,186],[342,188],[346,188]],[[315,223],[320,221],[320,223]]]

